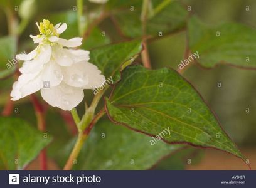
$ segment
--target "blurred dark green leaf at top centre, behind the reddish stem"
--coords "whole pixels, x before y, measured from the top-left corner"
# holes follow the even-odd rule
[[[147,34],[159,36],[159,32],[162,32],[164,36],[184,28],[188,12],[177,1],[168,2],[164,6],[161,6],[163,1],[154,2],[153,15],[147,20]],[[136,7],[131,11],[129,7],[115,14],[114,18],[125,36],[136,38],[142,35],[141,8]]]

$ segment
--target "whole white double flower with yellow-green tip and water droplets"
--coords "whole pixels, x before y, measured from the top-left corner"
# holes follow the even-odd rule
[[[82,38],[59,38],[67,24],[53,24],[48,20],[38,25],[40,35],[31,36],[38,43],[28,54],[16,55],[23,60],[21,75],[13,84],[11,100],[19,100],[38,90],[53,107],[72,110],[83,100],[83,89],[94,89],[105,81],[97,66],[89,63],[89,51],[69,49],[80,46]],[[68,48],[63,48],[68,47]]]

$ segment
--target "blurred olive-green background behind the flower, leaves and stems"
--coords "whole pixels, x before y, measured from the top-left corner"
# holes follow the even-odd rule
[[[6,3],[1,0],[0,2],[0,37],[2,37],[8,35],[8,18],[5,14]],[[7,2],[9,7],[12,9],[11,11],[13,14],[17,15],[18,11],[14,11],[13,8],[15,8],[15,6],[19,6],[21,1]],[[246,24],[251,28],[256,27],[256,1],[254,0],[183,0],[180,2],[183,4],[184,8],[191,6],[191,13],[196,14],[203,22],[209,25],[235,21]],[[98,4],[88,3],[88,1],[84,1],[84,3],[85,13],[88,11],[88,14],[90,13],[91,16],[98,14]],[[130,1],[129,4],[132,4],[132,1]],[[23,50],[30,51],[35,48],[33,41],[29,38],[29,34],[37,34],[35,22],[40,22],[42,19],[50,19],[54,24],[58,22],[66,22],[68,24],[68,29],[61,35],[63,38],[78,36],[77,13],[75,11],[75,6],[76,1],[74,0],[36,1],[36,12],[29,20],[28,26],[24,29],[24,32],[19,38],[18,53]],[[249,6],[250,11],[245,11],[247,6]],[[91,9],[94,10],[93,13]],[[104,39],[99,40],[97,38],[102,34],[102,31],[106,32],[106,36]],[[122,40],[124,40],[124,38],[122,38],[122,36],[120,36],[115,30],[111,19],[107,18],[100,23],[99,28],[93,31],[93,34],[88,38],[87,43],[83,44],[83,48],[90,50],[97,46]],[[152,67],[161,68],[167,66],[177,69],[179,61],[183,59],[185,44],[186,33],[184,31],[170,34],[168,36],[161,36],[152,40],[149,43],[149,54]],[[251,163],[253,163],[252,157],[255,157],[256,154],[256,71],[239,69],[227,65],[220,65],[212,69],[205,69],[193,64],[186,69],[183,76],[189,80],[193,86],[195,86],[196,90],[201,93],[206,103],[216,113],[222,127],[238,147],[242,149],[242,152],[245,152],[244,155],[250,159]],[[1,112],[3,112],[4,104],[8,101],[13,81],[13,77],[6,80],[0,80]],[[221,83],[221,88],[218,88],[218,83]],[[88,93],[88,95],[90,94]],[[29,102],[28,98],[15,102],[14,109],[15,108],[19,110],[19,113],[13,112],[14,116],[22,117],[36,126],[35,115],[27,115],[29,112],[33,114],[33,106]],[[247,108],[250,109],[249,113],[246,112]],[[83,107],[80,107],[78,112],[82,114],[82,110]],[[55,136],[53,144],[48,147],[48,154],[53,158],[56,156],[55,151],[58,147],[65,144],[68,140],[67,138],[72,137],[72,131],[70,131],[73,130],[72,125],[68,125],[67,121],[65,122],[63,120],[63,116],[65,117],[65,114],[61,113],[60,110],[53,108],[49,108],[46,116],[48,132]],[[200,152],[205,151],[202,149],[198,150]],[[204,157],[207,157],[208,160]],[[201,164],[203,166],[200,166],[199,161],[196,162],[198,165],[197,167],[196,165],[193,167],[189,164],[187,164],[187,167],[188,169],[207,169],[207,165],[211,162],[214,163],[214,160],[210,159],[211,157],[215,159],[220,157],[219,160],[223,159],[227,162],[229,160],[226,154],[206,150],[206,155],[200,157],[200,159],[204,158],[203,164]],[[188,157],[184,157],[183,161],[185,164],[187,159]],[[240,164],[237,164],[239,160],[230,161],[233,162],[233,164],[225,167],[226,169],[232,169],[234,166],[238,167],[238,169],[240,168]],[[166,167],[167,165],[168,161],[167,164],[159,165],[159,169],[168,169],[168,167]],[[220,165],[219,168],[221,169],[220,161],[217,165]],[[174,166],[175,165],[173,165],[173,168],[171,169],[179,169],[179,167],[176,168]],[[252,166],[255,167],[255,161]],[[242,165],[241,168],[243,167],[244,166]],[[58,169],[58,167],[53,163],[53,169],[55,168]],[[218,169],[218,167],[212,166],[212,169]]]

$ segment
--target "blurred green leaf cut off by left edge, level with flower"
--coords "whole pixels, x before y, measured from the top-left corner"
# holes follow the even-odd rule
[[[6,78],[16,70],[15,53],[16,38],[13,36],[0,38],[0,79]]]

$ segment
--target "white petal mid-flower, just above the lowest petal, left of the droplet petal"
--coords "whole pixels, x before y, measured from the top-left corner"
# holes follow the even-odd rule
[[[49,61],[49,63],[46,63],[41,73],[41,79],[43,82],[49,81],[50,87],[59,85],[63,80],[60,65],[55,61]]]

